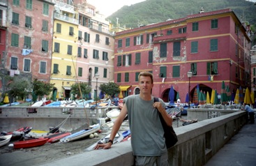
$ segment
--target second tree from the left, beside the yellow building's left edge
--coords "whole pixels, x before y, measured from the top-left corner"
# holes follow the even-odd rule
[[[50,95],[53,88],[54,84],[50,84],[49,82],[38,81],[37,79],[33,80],[33,94],[35,96]]]

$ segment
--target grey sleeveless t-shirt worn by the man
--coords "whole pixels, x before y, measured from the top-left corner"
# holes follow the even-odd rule
[[[134,156],[161,156],[166,152],[163,126],[151,100],[139,95],[124,98],[128,111]],[[164,105],[163,100],[159,101]]]

